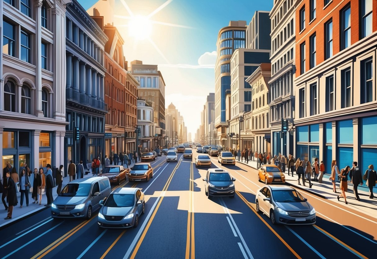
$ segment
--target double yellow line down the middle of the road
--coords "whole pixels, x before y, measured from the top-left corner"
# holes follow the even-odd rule
[[[194,228],[194,170],[193,163],[190,166],[190,192],[189,192],[189,209],[187,210],[187,239],[186,239],[186,257],[185,259],[195,258],[195,228]],[[190,251],[191,244],[191,251]],[[191,257],[190,257],[191,252]]]

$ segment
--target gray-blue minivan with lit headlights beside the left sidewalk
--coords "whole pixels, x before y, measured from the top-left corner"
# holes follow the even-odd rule
[[[111,193],[108,177],[90,177],[73,180],[61,190],[51,204],[53,218],[86,217],[100,208],[100,200]]]

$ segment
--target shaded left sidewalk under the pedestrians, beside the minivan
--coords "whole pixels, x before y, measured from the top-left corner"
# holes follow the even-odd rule
[[[135,162],[131,163],[131,165],[129,165],[129,168],[132,167],[133,165],[135,165]],[[124,167],[127,168],[126,165],[124,165]],[[102,169],[102,165],[100,167],[100,171],[101,171],[101,169]],[[92,173],[88,173],[87,175],[84,175],[84,178],[86,178],[86,177],[93,177],[93,175],[92,175]],[[69,176],[63,177],[63,184],[62,184],[62,187],[61,187],[62,190],[68,182],[69,182]],[[54,187],[52,189],[52,196],[54,197],[54,200],[58,196],[58,194],[56,193],[57,188],[58,187]],[[21,193],[20,192],[17,193],[17,200],[18,200],[18,204],[17,204],[17,206],[15,206],[13,208],[12,219],[7,219],[7,220],[5,220],[4,218],[7,216],[8,211],[5,210],[3,203],[2,202],[0,203],[0,208],[1,208],[0,209],[0,229],[5,227],[6,225],[17,222],[24,217],[30,216],[32,214],[37,213],[38,211],[45,210],[45,209],[49,208],[49,207],[44,207],[44,205],[47,204],[46,194],[42,195],[42,204],[41,205],[33,204],[34,200],[31,198],[31,193],[29,193],[29,206],[28,207],[26,207],[25,197],[24,197],[24,201],[23,201],[23,206],[22,206],[22,208],[20,207],[20,205],[21,205]],[[39,197],[38,197],[38,202],[39,202]],[[7,205],[8,205],[8,203],[7,203]]]

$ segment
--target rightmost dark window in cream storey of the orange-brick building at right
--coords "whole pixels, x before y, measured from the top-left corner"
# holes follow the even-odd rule
[[[361,64],[360,103],[373,100],[373,62],[372,58],[364,60]]]

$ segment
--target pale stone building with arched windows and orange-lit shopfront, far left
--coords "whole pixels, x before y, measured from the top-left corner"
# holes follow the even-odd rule
[[[65,16],[70,1],[0,4],[1,168],[64,161]]]

